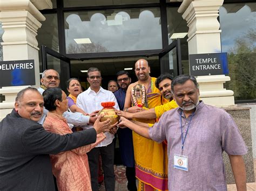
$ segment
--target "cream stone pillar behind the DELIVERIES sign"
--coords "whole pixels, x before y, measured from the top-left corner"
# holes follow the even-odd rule
[[[35,60],[36,86],[40,85],[37,30],[45,17],[38,9],[52,8],[50,0],[8,0],[0,3],[3,33],[3,60]],[[24,86],[0,88],[0,121],[14,108],[15,97]]]

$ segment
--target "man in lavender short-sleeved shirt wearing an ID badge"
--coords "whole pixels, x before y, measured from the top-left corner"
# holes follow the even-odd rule
[[[158,143],[167,139],[169,190],[227,190],[223,151],[230,158],[237,190],[246,190],[242,155],[247,147],[231,115],[199,101],[194,76],[175,77],[171,88],[179,108],[165,112],[152,128],[124,117],[119,126]]]

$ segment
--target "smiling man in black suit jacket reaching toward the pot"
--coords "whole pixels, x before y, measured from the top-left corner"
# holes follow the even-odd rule
[[[110,121],[92,129],[60,136],[37,122],[43,114],[43,96],[36,88],[17,94],[15,109],[0,122],[0,190],[55,190],[49,154],[94,143]]]

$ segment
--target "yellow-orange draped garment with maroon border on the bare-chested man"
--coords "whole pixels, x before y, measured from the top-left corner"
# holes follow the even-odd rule
[[[151,77],[151,93],[147,93],[148,108],[167,103],[154,86],[155,77]],[[154,119],[134,119],[143,123],[155,123]],[[138,190],[167,190],[167,148],[164,143],[157,143],[132,132],[136,177],[139,179]]]

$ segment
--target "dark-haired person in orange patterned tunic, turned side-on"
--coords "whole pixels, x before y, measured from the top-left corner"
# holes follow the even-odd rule
[[[44,121],[44,129],[59,135],[72,133],[66,119],[62,116],[68,110],[66,94],[59,88],[49,88],[43,93],[44,107],[49,110]],[[99,118],[95,125],[103,124]],[[76,132],[75,132],[76,133]],[[59,190],[92,190],[87,152],[103,141],[104,133],[97,135],[95,143],[50,155],[52,172],[57,179]]]

